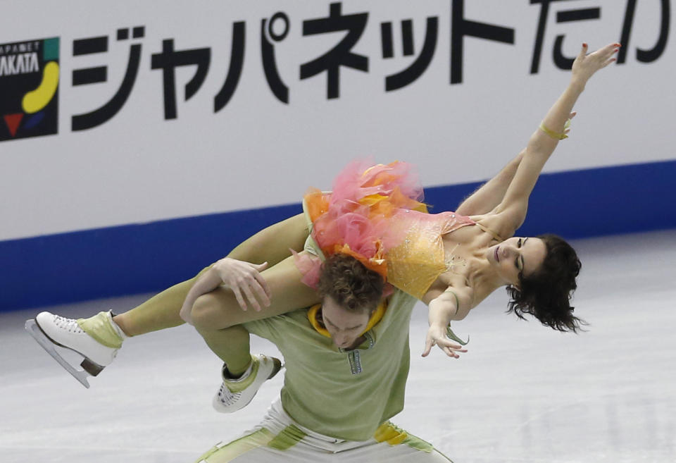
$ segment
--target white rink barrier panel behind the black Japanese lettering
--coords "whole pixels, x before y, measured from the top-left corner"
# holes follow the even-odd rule
[[[369,58],[368,73],[340,70],[340,97],[327,100],[326,74],[300,80],[302,63],[324,54],[343,32],[302,35],[302,21],[324,18],[328,1],[32,1],[3,2],[0,44],[60,37],[59,133],[0,142],[0,240],[299,202],[309,185],[330,187],[334,173],[356,156],[418,164],[423,184],[481,180],[518,152],[568,82],[553,64],[556,35],[564,53],[618,41],[625,1],[551,4],[539,73],[530,74],[539,5],[527,0],[466,0],[465,18],[511,27],[515,44],[465,37],[464,79],[449,84],[451,1],[343,1],[344,14],[368,12],[353,52]],[[670,35],[653,63],[637,47],[658,38],[661,4],[639,0],[626,63],[601,70],[577,105],[572,137],[546,171],[676,159],[665,142],[676,108],[675,51]],[[601,7],[599,20],[556,23],[556,12]],[[289,86],[280,103],[263,75],[260,24],[277,11],[290,19],[276,44]],[[408,87],[384,91],[386,75],[420,52],[425,18],[439,18],[430,67]],[[415,56],[401,52],[399,22],[413,19]],[[230,103],[213,113],[213,97],[230,64],[232,23],[246,21],[242,78]],[[394,53],[383,59],[380,23],[392,21]],[[107,123],[73,132],[70,118],[102,106],[117,91],[132,41],[116,42],[120,27],[145,26],[142,61],[130,98]],[[109,35],[107,54],[73,56],[73,39]],[[199,92],[184,101],[194,66],[178,68],[178,118],[163,119],[161,70],[151,54],[162,40],[176,49],[211,47]],[[108,66],[108,82],[71,85],[74,69]],[[1,121],[0,121],[1,122]]]

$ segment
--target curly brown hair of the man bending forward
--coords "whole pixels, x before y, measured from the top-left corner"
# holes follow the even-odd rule
[[[380,302],[384,281],[347,254],[334,254],[322,264],[318,291],[320,297],[331,296],[349,311],[373,311]]]

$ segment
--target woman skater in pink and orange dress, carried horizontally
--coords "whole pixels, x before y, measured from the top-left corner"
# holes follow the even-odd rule
[[[429,306],[430,329],[423,355],[429,354],[433,345],[438,345],[450,357],[458,357],[457,352],[463,352],[463,349],[447,336],[450,321],[463,319],[470,309],[501,286],[507,286],[511,295],[509,310],[518,316],[532,314],[545,325],[561,331],[575,332],[580,327],[581,321],[572,314],[569,303],[576,288],[575,277],[580,271],[575,252],[563,240],[551,235],[513,237],[513,234],[525,218],[530,192],[544,163],[558,141],[565,138],[568,131],[565,123],[574,116],[571,113],[573,104],[589,78],[615,61],[612,56],[619,46],[613,43],[587,54],[587,44],[583,44],[573,63],[568,87],[546,113],[527,147],[495,178],[466,199],[456,213],[416,212],[420,204],[411,202],[415,195],[413,190],[404,187],[408,177],[397,171],[401,165],[389,166],[389,171],[388,168],[377,168],[386,177],[389,173],[396,174],[389,183],[380,178],[373,184],[362,184],[349,190],[356,195],[359,204],[368,209],[362,215],[373,219],[372,225],[376,227],[380,219],[389,220],[392,224],[389,237],[401,239],[401,242],[394,238],[389,243],[383,242],[376,252],[371,253],[373,255],[360,255],[344,247],[340,250],[356,255],[365,264],[380,265],[381,271],[387,272],[390,284],[415,295]],[[382,185],[388,187],[376,188],[376,192],[363,190]],[[404,190],[409,195],[403,195],[403,199],[393,194],[401,194]],[[363,191],[368,194],[358,197]],[[385,197],[381,201],[382,209],[378,209],[377,204],[369,204],[368,196],[374,194]],[[312,223],[312,237],[324,252],[324,246],[334,245],[335,249],[339,243],[323,240],[315,232],[335,231],[330,225],[322,228],[323,222],[331,223],[323,217],[336,219],[337,216],[332,216],[334,211],[345,212],[344,204],[339,204],[333,211],[330,207],[324,211],[322,206],[330,201],[315,193],[305,202],[306,215]],[[398,209],[388,211],[388,207]],[[404,214],[410,218],[404,218]],[[51,347],[54,351],[51,343],[56,342],[82,353],[85,369],[97,373],[110,364],[126,336],[181,324],[180,308],[183,307],[184,318],[194,324],[211,349],[227,364],[226,381],[227,376],[258,371],[257,358],[252,362],[246,348],[249,333],[237,325],[320,302],[317,293],[301,281],[303,275],[294,258],[285,257],[289,248],[295,251],[303,248],[307,227],[305,218],[299,215],[263,230],[198,277],[165,290],[141,306],[115,316],[114,320],[110,312],[78,321],[43,312],[36,317],[37,323],[29,326],[31,321],[28,321],[27,327],[38,340],[42,336],[41,344],[47,350]],[[307,254],[299,253],[301,261]],[[415,266],[415,257],[425,257],[425,265]],[[382,269],[383,260],[387,270]],[[243,261],[266,263],[256,265]],[[273,266],[266,268],[267,264]],[[315,278],[305,277],[306,280]],[[246,309],[247,302],[257,310],[242,311],[240,307]],[[263,311],[258,310],[261,303],[267,306]],[[338,344],[337,337],[334,342]],[[54,356],[55,351],[50,353]],[[275,366],[270,366],[261,373],[269,374],[275,370]],[[73,371],[71,374],[76,376]],[[82,381],[86,373],[79,373]],[[260,385],[265,378],[267,374],[261,379],[256,378],[258,381],[255,382]]]

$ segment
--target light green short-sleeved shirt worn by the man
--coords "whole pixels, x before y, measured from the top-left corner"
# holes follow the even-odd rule
[[[308,309],[244,323],[277,345],[286,364],[282,405],[301,426],[339,439],[368,440],[403,409],[410,352],[408,324],[417,300],[396,290],[384,316],[357,349],[318,333]]]

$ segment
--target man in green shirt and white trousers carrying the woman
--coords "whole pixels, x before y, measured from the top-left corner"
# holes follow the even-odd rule
[[[321,304],[244,324],[284,356],[280,399],[253,431],[197,461],[451,461],[388,421],[403,409],[415,297],[381,300],[382,277],[344,254],[325,261],[318,290]]]

